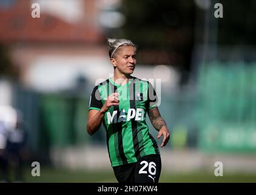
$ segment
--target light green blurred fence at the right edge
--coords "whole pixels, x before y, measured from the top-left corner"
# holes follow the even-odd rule
[[[205,151],[256,151],[256,64],[209,63],[199,71],[197,123]]]

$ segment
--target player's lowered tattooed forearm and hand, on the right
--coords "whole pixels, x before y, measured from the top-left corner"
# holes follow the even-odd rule
[[[160,115],[158,107],[151,108],[148,112],[148,115],[152,126],[158,131],[157,138],[159,139],[163,135],[163,142],[161,147],[165,146],[169,141],[169,130],[166,126],[165,120]]]

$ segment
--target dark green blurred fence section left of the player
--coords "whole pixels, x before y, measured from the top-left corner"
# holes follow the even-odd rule
[[[87,143],[88,99],[48,94],[41,98],[41,135],[49,146]],[[41,141],[43,143],[44,141]]]

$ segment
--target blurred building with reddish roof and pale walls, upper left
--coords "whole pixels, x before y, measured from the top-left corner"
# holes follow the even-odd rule
[[[66,5],[63,1],[52,5],[50,1],[42,1],[40,18],[31,16],[34,1],[11,2],[9,7],[0,8],[0,41],[9,45],[12,63],[20,73],[21,83],[27,87],[40,91],[72,87],[76,77],[90,77],[88,65],[97,66],[105,60],[104,35],[90,22],[95,20],[93,10],[96,10],[92,1],[86,6],[85,1],[74,1],[77,4],[72,3],[71,8],[76,5],[73,9],[79,8],[80,15],[73,17],[62,6]],[[63,10],[55,11],[54,7]],[[68,21],[65,15],[73,20]]]

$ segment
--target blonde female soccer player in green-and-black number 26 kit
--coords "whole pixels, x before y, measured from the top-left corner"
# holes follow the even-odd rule
[[[135,45],[125,39],[108,39],[108,43],[114,74],[91,93],[87,132],[93,135],[103,121],[108,155],[119,183],[157,183],[161,158],[146,113],[158,131],[157,138],[163,136],[161,147],[169,140],[168,127],[151,83],[131,76],[136,65]]]

